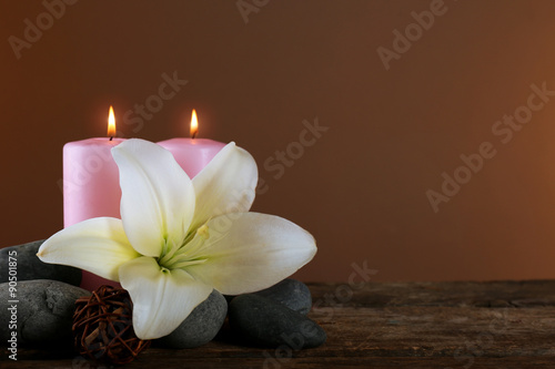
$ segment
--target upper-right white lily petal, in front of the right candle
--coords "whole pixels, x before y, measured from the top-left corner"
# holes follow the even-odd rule
[[[221,214],[249,212],[258,180],[251,154],[234,142],[225,145],[192,180],[196,207],[191,229]]]

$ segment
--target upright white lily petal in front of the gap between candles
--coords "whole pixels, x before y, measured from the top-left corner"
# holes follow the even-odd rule
[[[120,168],[121,218],[131,245],[147,256],[181,245],[194,214],[194,188],[173,155],[132,139],[112,148]]]

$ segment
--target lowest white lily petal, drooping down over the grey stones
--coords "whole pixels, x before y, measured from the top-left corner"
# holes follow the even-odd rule
[[[121,286],[133,301],[133,329],[141,339],[171,334],[212,293],[181,269],[162,269],[152,257],[120,267]]]

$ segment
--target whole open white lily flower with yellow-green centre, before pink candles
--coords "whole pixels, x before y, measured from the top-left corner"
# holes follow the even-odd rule
[[[193,180],[169,151],[148,141],[128,140],[112,155],[122,218],[62,229],[38,256],[121,283],[133,300],[141,339],[171,334],[213,288],[225,295],[268,288],[316,253],[303,228],[249,212],[256,164],[233,142]]]

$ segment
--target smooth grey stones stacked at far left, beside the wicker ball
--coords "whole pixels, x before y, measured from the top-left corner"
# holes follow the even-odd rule
[[[79,288],[81,269],[42,263],[37,252],[43,240],[0,249],[0,341],[6,345],[12,334],[8,321],[17,307],[19,345],[71,345],[71,326],[75,300],[91,293]],[[16,253],[13,253],[16,252]],[[13,256],[14,255],[14,256]],[[17,304],[9,291],[9,260],[17,259]],[[13,278],[11,281],[12,286]],[[71,346],[69,346],[71,347]]]

